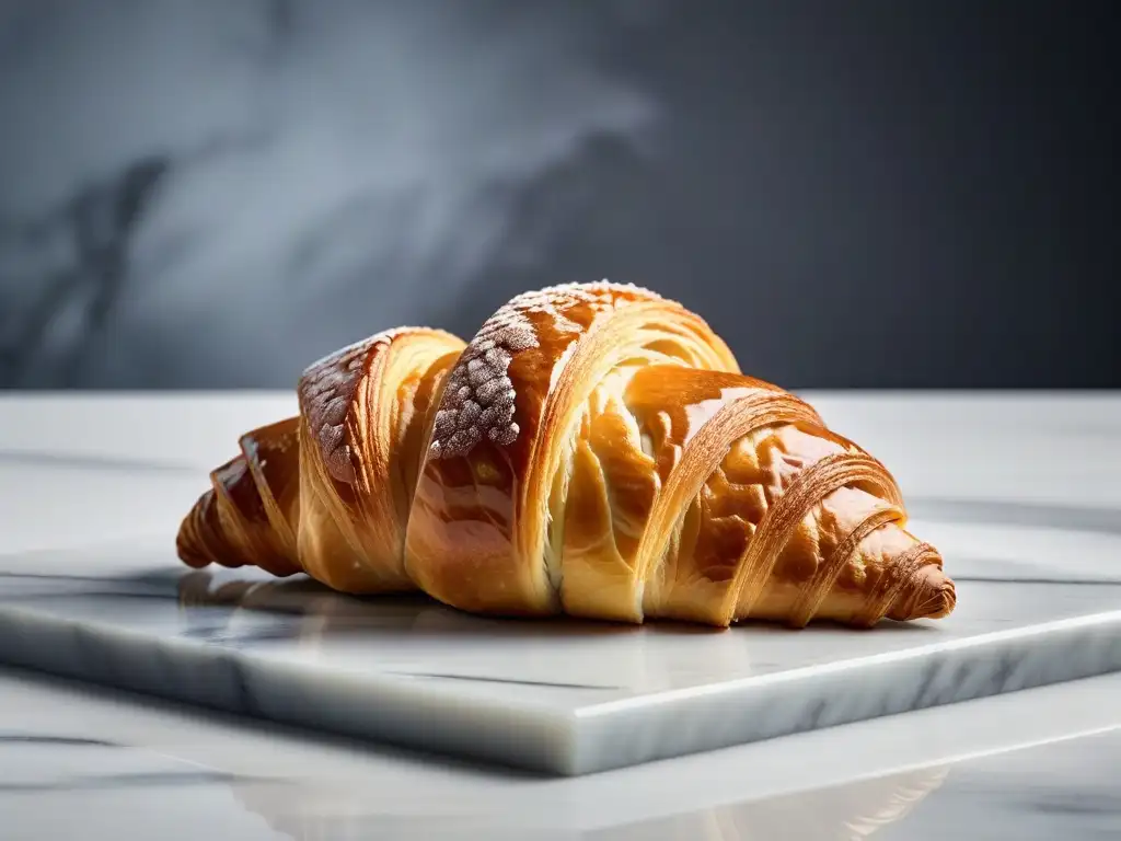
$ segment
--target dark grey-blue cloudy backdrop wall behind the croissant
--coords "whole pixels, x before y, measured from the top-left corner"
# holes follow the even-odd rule
[[[287,387],[601,277],[791,387],[1121,386],[1118,17],[0,0],[0,387]]]

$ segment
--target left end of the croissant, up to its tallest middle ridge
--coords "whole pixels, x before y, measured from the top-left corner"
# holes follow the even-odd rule
[[[243,436],[241,455],[211,475],[179,529],[179,556],[305,572],[344,592],[415,590],[405,523],[428,407],[463,348],[451,333],[400,327],[312,364],[299,416]]]

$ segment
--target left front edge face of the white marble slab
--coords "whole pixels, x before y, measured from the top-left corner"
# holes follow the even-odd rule
[[[164,656],[175,651],[179,656]],[[562,708],[463,696],[400,675],[340,673],[109,623],[0,607],[0,663],[313,732],[539,771],[566,765]],[[312,711],[312,712],[309,712]]]

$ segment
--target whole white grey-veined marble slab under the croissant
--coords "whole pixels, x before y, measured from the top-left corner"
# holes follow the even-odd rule
[[[942,525],[971,545],[969,524]],[[992,575],[984,557],[951,554],[958,608],[941,622],[712,632],[355,600],[185,571],[166,539],[137,538],[0,558],[0,660],[581,775],[1121,669],[1111,545],[1096,577],[1083,558],[1082,579],[1062,556],[1025,562],[1022,581],[1016,557]]]

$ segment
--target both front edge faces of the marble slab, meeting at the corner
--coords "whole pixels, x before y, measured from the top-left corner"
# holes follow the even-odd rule
[[[169,649],[186,656],[160,656]],[[0,608],[0,662],[311,730],[581,776],[1119,672],[1121,610],[568,709],[495,703],[429,682],[417,688],[400,676],[341,675],[10,606]]]

